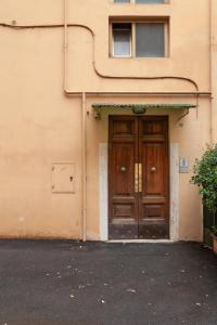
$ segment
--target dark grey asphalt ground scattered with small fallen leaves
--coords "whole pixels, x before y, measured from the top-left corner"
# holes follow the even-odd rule
[[[0,325],[217,324],[217,257],[196,243],[0,240]]]

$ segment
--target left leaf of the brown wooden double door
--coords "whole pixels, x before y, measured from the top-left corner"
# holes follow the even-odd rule
[[[110,238],[138,237],[138,197],[135,193],[137,120],[110,119]]]

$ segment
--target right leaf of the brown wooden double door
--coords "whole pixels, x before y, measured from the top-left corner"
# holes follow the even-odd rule
[[[165,117],[142,117],[139,121],[139,159],[142,164],[140,238],[169,236],[167,129]]]

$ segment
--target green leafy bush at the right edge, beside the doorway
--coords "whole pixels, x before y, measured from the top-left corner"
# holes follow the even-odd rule
[[[203,206],[209,212],[207,216],[212,216],[213,220],[209,231],[213,234],[213,243],[215,246],[217,237],[217,144],[207,146],[202,158],[195,160],[191,183],[199,186]],[[207,216],[205,214],[205,218],[207,218]]]

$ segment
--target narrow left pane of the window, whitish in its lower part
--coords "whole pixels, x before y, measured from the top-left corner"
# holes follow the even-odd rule
[[[131,24],[113,24],[114,56],[130,56]]]

